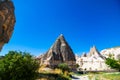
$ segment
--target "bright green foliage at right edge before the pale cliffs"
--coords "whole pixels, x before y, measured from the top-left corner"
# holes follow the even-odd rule
[[[114,58],[107,58],[106,64],[109,65],[113,69],[117,69],[120,71],[120,60],[115,60]]]

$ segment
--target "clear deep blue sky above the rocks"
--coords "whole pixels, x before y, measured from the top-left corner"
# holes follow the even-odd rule
[[[119,0],[13,0],[16,24],[0,55],[46,52],[62,33],[74,53],[120,46]]]

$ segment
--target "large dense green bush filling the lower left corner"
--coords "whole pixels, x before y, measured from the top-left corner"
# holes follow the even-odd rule
[[[0,80],[35,80],[38,67],[29,53],[9,51],[0,60]]]

